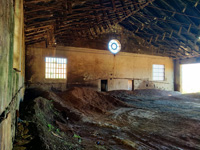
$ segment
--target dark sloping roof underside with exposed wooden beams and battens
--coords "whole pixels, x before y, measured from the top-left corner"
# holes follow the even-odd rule
[[[25,0],[26,44],[70,44],[120,25],[158,54],[197,57],[199,4],[199,0]]]

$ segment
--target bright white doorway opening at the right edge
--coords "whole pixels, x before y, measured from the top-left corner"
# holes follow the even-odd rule
[[[181,65],[182,93],[200,92],[200,63]]]

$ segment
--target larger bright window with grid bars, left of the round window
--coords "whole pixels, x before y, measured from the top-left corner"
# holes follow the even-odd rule
[[[66,79],[67,70],[66,58],[45,58],[45,78],[46,79]]]

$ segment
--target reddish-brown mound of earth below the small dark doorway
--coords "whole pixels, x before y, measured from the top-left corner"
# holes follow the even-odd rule
[[[90,88],[72,88],[58,94],[61,101],[82,113],[106,113],[115,107],[125,107],[127,104],[107,93],[94,91]]]

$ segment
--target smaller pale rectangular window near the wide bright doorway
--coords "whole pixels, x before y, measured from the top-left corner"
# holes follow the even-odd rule
[[[153,65],[153,80],[164,81],[164,79],[165,79],[165,66]]]

